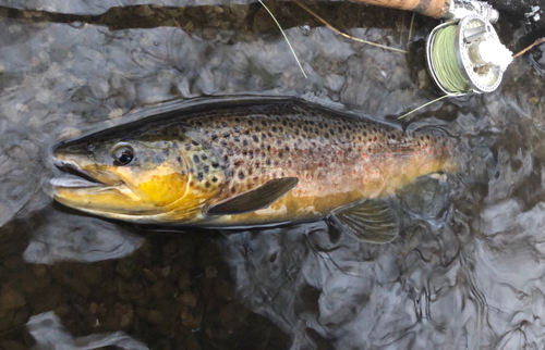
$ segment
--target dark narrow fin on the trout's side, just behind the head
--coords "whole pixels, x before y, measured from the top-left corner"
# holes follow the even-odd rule
[[[206,213],[208,215],[233,215],[264,209],[288,193],[298,183],[296,177],[275,178],[250,191],[210,205]]]

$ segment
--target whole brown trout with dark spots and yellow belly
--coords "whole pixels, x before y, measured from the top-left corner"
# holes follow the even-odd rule
[[[401,128],[300,100],[211,103],[61,141],[53,198],[137,223],[234,228],[329,217],[373,242],[398,218],[383,198],[452,168],[438,130]]]

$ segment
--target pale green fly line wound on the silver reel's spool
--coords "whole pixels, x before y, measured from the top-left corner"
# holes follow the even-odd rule
[[[471,86],[463,77],[455,52],[456,25],[437,30],[433,41],[432,59],[435,74],[450,93],[471,92]]]

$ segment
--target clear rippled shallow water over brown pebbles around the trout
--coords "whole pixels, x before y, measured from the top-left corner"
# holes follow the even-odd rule
[[[293,3],[267,2],[305,79],[259,4],[157,3],[0,8],[0,348],[111,346],[126,340],[118,332],[141,341],[118,341],[128,349],[545,348],[545,104],[528,54],[496,92],[439,101],[401,122],[447,129],[463,168],[392,199],[403,229],[390,245],[324,222],[150,232],[52,204],[43,191],[51,142],[164,101],[298,96],[395,121],[438,96],[423,57],[434,21],[416,17],[408,40],[409,13],[314,7],[354,36],[409,41],[402,54],[339,38]],[[506,17],[496,27],[518,51],[525,26]]]

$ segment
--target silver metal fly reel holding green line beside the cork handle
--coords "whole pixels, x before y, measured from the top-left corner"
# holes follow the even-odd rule
[[[427,68],[447,95],[496,90],[512,53],[499,40],[493,23],[498,12],[482,1],[452,0],[426,40]]]

